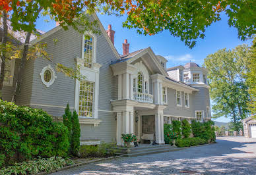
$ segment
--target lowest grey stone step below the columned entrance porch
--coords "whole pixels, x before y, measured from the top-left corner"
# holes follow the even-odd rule
[[[123,155],[125,157],[137,157],[141,155],[150,155],[150,154],[156,154],[156,153],[165,153],[170,151],[178,151],[184,149],[182,147],[170,147],[170,148],[162,148],[162,149],[141,149],[137,152],[132,153],[116,153],[117,155]]]

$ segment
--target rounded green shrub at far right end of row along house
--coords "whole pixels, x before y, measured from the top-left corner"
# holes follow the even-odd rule
[[[191,128],[194,137],[205,139],[208,143],[216,141],[214,122],[211,120],[203,123],[192,120]]]

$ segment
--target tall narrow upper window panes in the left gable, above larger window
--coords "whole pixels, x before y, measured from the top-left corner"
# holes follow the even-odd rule
[[[93,39],[91,36],[84,36],[84,67],[92,68]]]

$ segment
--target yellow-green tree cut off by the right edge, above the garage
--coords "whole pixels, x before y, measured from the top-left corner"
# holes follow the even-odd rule
[[[248,71],[246,73],[246,84],[249,86],[249,111],[251,114],[256,114],[256,37],[254,37],[251,48],[251,57],[249,57],[247,63]]]

